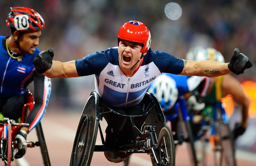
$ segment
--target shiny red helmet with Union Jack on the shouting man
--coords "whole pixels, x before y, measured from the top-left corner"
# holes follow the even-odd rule
[[[126,22],[118,32],[118,43],[119,46],[119,39],[142,43],[143,47],[141,49],[141,53],[147,52],[150,47],[151,43],[151,35],[149,29],[146,27],[145,24],[139,21],[129,21]]]

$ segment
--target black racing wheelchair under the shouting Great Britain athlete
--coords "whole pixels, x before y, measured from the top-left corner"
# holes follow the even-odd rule
[[[141,115],[122,115],[103,103],[97,92],[90,94],[82,112],[71,152],[70,165],[90,165],[93,152],[104,152],[111,162],[121,162],[133,153],[150,154],[152,165],[175,165],[173,134],[155,96],[147,92]],[[99,121],[106,120],[104,139]],[[98,129],[102,145],[95,145]],[[158,136],[158,139],[157,139]]]

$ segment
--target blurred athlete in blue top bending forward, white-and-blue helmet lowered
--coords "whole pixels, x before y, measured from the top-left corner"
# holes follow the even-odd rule
[[[178,97],[189,92],[196,90],[198,96],[205,96],[209,83],[208,77],[162,73],[150,84],[148,92],[157,98],[163,112],[168,112],[173,108]]]

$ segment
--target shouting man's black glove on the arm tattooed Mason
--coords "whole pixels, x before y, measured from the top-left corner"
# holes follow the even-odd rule
[[[230,63],[228,64],[229,70],[234,74],[242,74],[245,69],[252,67],[253,64],[250,62],[247,56],[240,53],[238,48],[235,48],[231,57]]]

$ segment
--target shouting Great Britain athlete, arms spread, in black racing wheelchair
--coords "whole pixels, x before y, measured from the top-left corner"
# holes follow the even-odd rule
[[[62,63],[59,61],[53,61],[54,51],[53,48],[50,48],[48,51],[40,52],[34,59],[34,65],[36,70],[39,73],[43,73],[43,75],[49,78],[69,78],[69,77],[79,77],[79,76],[86,76],[86,75],[95,75],[95,87],[96,87],[96,94],[99,97],[93,97],[95,100],[102,100],[103,104],[95,104],[95,100],[91,103],[91,106],[94,106],[94,109],[91,109],[89,112],[90,114],[96,114],[97,118],[98,115],[105,116],[107,114],[111,114],[106,116],[106,120],[109,121],[109,127],[107,129],[107,135],[112,131],[115,132],[116,128],[119,125],[115,125],[115,121],[122,116],[122,113],[118,118],[113,119],[111,116],[117,114],[118,111],[114,110],[121,109],[123,113],[130,112],[126,115],[130,115],[136,119],[136,115],[140,113],[143,115],[143,111],[137,109],[134,110],[134,107],[139,107],[141,104],[144,105],[143,99],[148,86],[150,83],[153,82],[157,76],[159,76],[162,72],[171,73],[171,74],[181,74],[187,76],[207,76],[207,77],[215,77],[220,75],[226,75],[230,73],[235,74],[242,74],[246,68],[250,68],[252,66],[249,59],[242,53],[240,53],[239,49],[236,48],[233,52],[232,58],[230,63],[220,63],[216,61],[188,61],[174,57],[165,52],[159,51],[151,51],[150,48],[151,43],[151,35],[149,29],[139,21],[129,21],[122,25],[118,32],[118,47],[109,48],[105,51],[95,52],[93,54],[89,54],[85,56],[83,59],[73,60],[70,62]],[[210,71],[210,72],[209,72]],[[95,96],[95,95],[94,95]],[[150,99],[151,100],[151,99]],[[88,103],[87,102],[87,103]],[[101,103],[97,101],[98,103]],[[147,99],[145,99],[147,103]],[[98,110],[101,110],[101,107],[104,106],[104,103],[107,103],[107,106],[112,113],[100,113],[97,114]],[[139,105],[138,105],[139,104]],[[154,103],[157,105],[157,102]],[[147,108],[148,105],[145,104],[144,108]],[[90,107],[86,107],[87,110]],[[143,108],[143,107],[141,107]],[[138,112],[139,110],[139,112]],[[156,109],[156,111],[158,111]],[[84,111],[87,112],[87,111]],[[109,112],[109,111],[107,111]],[[94,121],[90,120],[90,114],[82,115],[82,123],[91,123]],[[135,115],[135,116],[133,116]],[[124,116],[124,115],[123,115]],[[92,115],[94,117],[94,115]],[[110,117],[110,118],[109,118]],[[141,116],[140,118],[142,118]],[[108,119],[109,118],[109,119]],[[130,122],[133,125],[133,118],[130,118]],[[143,123],[143,120],[140,118],[139,121]],[[127,120],[129,117],[125,117],[123,120]],[[136,121],[136,120],[135,120]],[[160,119],[161,121],[161,119]],[[114,122],[112,125],[111,123]],[[120,120],[120,122],[122,122]],[[150,121],[149,123],[152,123]],[[149,124],[148,123],[148,124]],[[136,123],[135,123],[136,124]],[[97,125],[97,123],[95,123]],[[113,126],[115,125],[115,126]],[[138,125],[138,126],[137,126]],[[138,123],[135,126],[140,127],[142,124]],[[79,125],[80,126],[80,125]],[[95,127],[95,126],[93,126]],[[129,127],[125,129],[126,126],[121,127],[124,130],[129,130]],[[152,127],[154,127],[152,125]],[[97,126],[96,126],[97,128]],[[143,126],[142,126],[143,128]],[[150,127],[149,127],[150,128]],[[168,128],[168,127],[164,127]],[[136,127],[133,127],[137,133],[139,133],[139,129],[137,130]],[[133,129],[130,130],[133,132]],[[146,129],[147,130],[147,129]],[[170,129],[167,129],[168,131]],[[86,130],[81,130],[81,133],[78,135],[87,135],[87,131],[91,131],[91,128],[87,128]],[[94,131],[94,128],[93,128]],[[78,128],[79,132],[79,128]],[[139,134],[140,137],[144,138],[145,135]],[[114,135],[115,136],[115,135]],[[158,136],[158,134],[157,134]],[[156,136],[156,137],[157,137]],[[108,137],[108,136],[107,136]],[[158,136],[159,137],[159,136]],[[80,138],[80,137],[78,137]],[[82,137],[81,137],[82,138]],[[88,138],[89,140],[92,139],[92,136],[84,138]],[[110,137],[111,138],[111,137]],[[130,137],[128,137],[130,139]],[[93,139],[96,139],[95,137]],[[139,139],[139,138],[138,138]],[[152,137],[151,137],[152,139]],[[159,141],[159,140],[158,140]],[[81,142],[81,143],[80,143]],[[81,140],[78,143],[78,147],[84,147],[83,145],[86,144],[88,140]],[[106,139],[106,144],[110,142],[108,138]],[[151,143],[150,143],[151,144]],[[153,145],[156,143],[152,143]],[[94,145],[93,145],[94,146]],[[128,146],[128,145],[127,145]],[[97,147],[95,147],[97,149]],[[84,148],[81,148],[84,150]],[[93,147],[91,147],[93,149]],[[129,149],[127,147],[127,149]],[[135,148],[136,149],[136,148]],[[138,149],[140,149],[140,144]],[[158,148],[159,149],[159,148]],[[111,152],[111,149],[109,149]],[[163,153],[162,151],[158,151],[159,153]],[[127,150],[128,153],[128,150]],[[174,152],[173,152],[174,154]],[[88,153],[81,153],[81,155],[88,156]],[[92,155],[92,153],[90,154]],[[105,153],[106,157],[112,162],[119,162],[118,156],[112,155],[111,153]],[[152,155],[156,156],[153,154]],[[151,156],[152,156],[151,155]],[[84,158],[86,157],[78,157],[79,165],[86,165],[86,162],[83,162]],[[126,156],[125,156],[126,157]],[[128,157],[128,156],[127,156]],[[89,156],[90,158],[90,156]],[[152,158],[151,158],[152,159]],[[162,160],[162,159],[161,159]],[[175,160],[173,161],[168,159],[168,162],[157,163],[157,165],[174,165]],[[153,161],[156,162],[156,161]],[[83,164],[82,164],[83,163]],[[167,164],[166,164],[167,163]],[[71,161],[72,164],[72,161]]]

